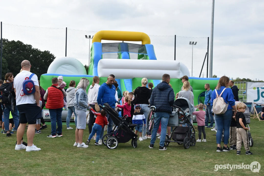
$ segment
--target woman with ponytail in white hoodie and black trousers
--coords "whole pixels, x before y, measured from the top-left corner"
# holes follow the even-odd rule
[[[95,103],[97,103],[97,95],[99,91],[99,85],[100,83],[100,78],[98,76],[93,77],[93,83],[90,85],[90,88],[88,90],[88,103],[89,106],[91,106],[95,110]],[[90,118],[89,118],[89,123],[88,123],[88,128],[89,128],[89,134],[92,132],[92,125],[95,121],[95,115],[90,111],[89,113]]]

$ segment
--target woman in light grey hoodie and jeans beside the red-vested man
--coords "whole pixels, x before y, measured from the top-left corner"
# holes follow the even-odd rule
[[[66,118],[66,126],[67,126],[67,130],[73,129],[72,127],[70,127],[70,117],[72,116],[72,113],[74,113],[75,115],[75,126],[77,126],[77,115],[75,112],[75,108],[74,108],[74,96],[75,96],[75,88],[76,83],[74,80],[70,81],[69,84],[69,88],[67,89],[66,93],[67,93],[67,105],[68,105],[68,115]]]

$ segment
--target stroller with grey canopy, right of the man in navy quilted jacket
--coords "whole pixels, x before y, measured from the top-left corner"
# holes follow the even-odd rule
[[[186,98],[177,98],[175,100],[174,111],[168,122],[168,126],[172,126],[174,129],[170,137],[166,135],[164,146],[168,146],[170,142],[177,142],[179,145],[183,144],[185,149],[195,145],[195,129],[189,120],[191,114],[188,114],[191,106],[190,101]],[[179,126],[179,124],[186,125],[186,127]]]

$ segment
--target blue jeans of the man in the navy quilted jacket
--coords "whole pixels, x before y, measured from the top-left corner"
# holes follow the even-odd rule
[[[162,147],[164,146],[168,121],[169,121],[169,113],[168,112],[155,112],[154,113],[154,126],[153,126],[153,130],[152,130],[150,144],[155,143],[157,131],[159,128],[159,123],[161,122],[161,139],[159,141],[159,145]]]

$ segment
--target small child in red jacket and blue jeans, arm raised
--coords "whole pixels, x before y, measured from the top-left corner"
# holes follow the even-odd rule
[[[95,133],[96,133],[95,145],[100,145],[98,144],[98,141],[100,138],[101,131],[105,125],[108,125],[109,122],[107,122],[106,113],[104,110],[101,110],[101,113],[99,113],[93,110],[93,108],[91,108],[91,112],[95,114],[97,117],[95,123],[93,124],[92,132],[89,135],[88,140],[86,141],[86,145],[89,144],[90,140],[92,139]]]

